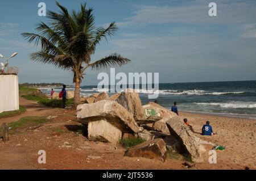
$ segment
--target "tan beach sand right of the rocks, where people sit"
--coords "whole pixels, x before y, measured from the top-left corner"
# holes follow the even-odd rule
[[[217,164],[212,165],[214,169],[228,169],[225,165],[230,166],[229,169],[232,167],[242,169],[244,166],[256,169],[255,120],[188,112],[181,112],[180,116],[183,119],[187,118],[196,132],[200,132],[203,124],[206,121],[210,121],[213,132],[217,134],[213,136],[201,136],[198,134],[197,136],[214,144],[226,146],[226,150],[217,151]],[[208,150],[212,148],[210,145],[204,146]],[[208,151],[204,155],[205,158],[208,157],[207,154]]]

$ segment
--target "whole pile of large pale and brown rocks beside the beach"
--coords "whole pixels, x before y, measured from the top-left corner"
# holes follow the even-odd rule
[[[118,143],[129,137],[146,140],[128,149],[125,156],[164,161],[169,148],[185,151],[193,162],[203,162],[204,149],[176,113],[152,102],[142,106],[135,90],[84,98],[84,104],[77,107],[77,120],[88,127],[91,141]]]

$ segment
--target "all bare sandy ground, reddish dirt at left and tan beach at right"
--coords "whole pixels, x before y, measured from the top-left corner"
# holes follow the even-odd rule
[[[21,131],[11,134],[10,141],[0,141],[0,169],[187,169],[184,160],[168,158],[160,162],[147,158],[123,157],[125,148],[121,145],[106,144],[89,141],[86,136],[76,134],[79,123],[76,122],[76,110],[61,110],[39,106],[30,100],[20,99],[24,107],[38,106],[37,109],[28,110],[30,116],[57,116],[43,127],[34,131]],[[26,116],[27,112],[8,121],[16,121]],[[226,146],[225,150],[217,150],[217,163],[208,162],[208,151],[212,145],[205,145],[203,153],[204,163],[197,163],[197,169],[256,169],[255,159],[255,131],[254,120],[238,119],[234,117],[202,115],[196,113],[180,112],[180,117],[187,118],[196,132],[200,132],[205,121],[210,121],[213,136],[201,136],[201,140],[216,145]],[[16,119],[16,120],[15,120]],[[6,118],[0,119],[0,123]],[[65,145],[70,144],[69,146]],[[38,150],[47,151],[47,164],[38,164]],[[93,155],[101,159],[88,159]]]

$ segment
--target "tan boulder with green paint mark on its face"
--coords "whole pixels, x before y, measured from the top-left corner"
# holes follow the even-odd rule
[[[173,117],[177,117],[176,113],[153,102],[144,105],[143,108],[147,116],[144,122],[154,123],[152,129],[155,131],[170,134],[166,121]]]

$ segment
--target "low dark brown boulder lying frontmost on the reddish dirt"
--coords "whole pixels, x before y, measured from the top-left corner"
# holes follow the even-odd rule
[[[144,157],[150,159],[159,159],[165,161],[166,143],[162,138],[158,138],[152,141],[146,141],[142,144],[131,147],[125,152],[126,157]]]

